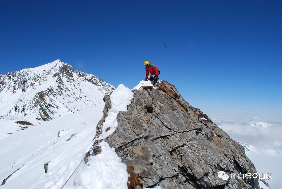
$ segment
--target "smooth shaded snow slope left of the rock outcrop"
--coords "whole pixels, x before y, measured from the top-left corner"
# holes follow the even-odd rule
[[[24,165],[1,188],[60,188],[93,144],[103,108],[104,105],[97,105],[1,139],[0,179]],[[70,138],[72,134],[75,135]],[[46,162],[47,173],[43,168]],[[74,186],[71,179],[69,182]]]

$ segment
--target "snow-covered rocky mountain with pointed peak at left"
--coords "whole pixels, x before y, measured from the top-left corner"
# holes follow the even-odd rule
[[[0,75],[0,116],[48,121],[103,103],[114,86],[56,60]]]

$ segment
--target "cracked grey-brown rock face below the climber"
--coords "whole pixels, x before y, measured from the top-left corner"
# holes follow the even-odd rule
[[[127,112],[117,115],[116,131],[104,139],[126,165],[142,167],[144,187],[255,188],[257,180],[227,181],[217,173],[256,173],[244,148],[199,109],[191,107],[166,81],[160,89],[134,90]],[[101,134],[111,101],[97,125]],[[152,106],[150,113],[146,106]]]

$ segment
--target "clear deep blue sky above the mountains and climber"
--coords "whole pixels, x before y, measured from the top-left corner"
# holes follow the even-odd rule
[[[0,74],[60,59],[133,88],[148,60],[208,116],[280,119],[281,10],[254,0],[1,1]]]

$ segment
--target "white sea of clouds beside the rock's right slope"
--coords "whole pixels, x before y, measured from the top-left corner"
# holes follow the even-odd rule
[[[266,180],[271,188],[280,187],[282,175],[282,121],[261,120],[258,118],[211,117],[211,120],[225,131],[233,140],[254,146],[246,153],[254,163],[257,173],[271,173],[272,180]],[[268,127],[260,124],[269,123]],[[253,125],[251,125],[253,124]]]

